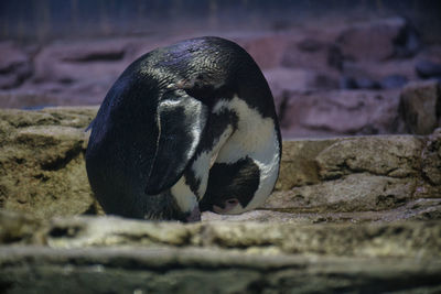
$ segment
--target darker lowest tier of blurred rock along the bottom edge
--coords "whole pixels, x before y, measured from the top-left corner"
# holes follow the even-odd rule
[[[17,248],[6,293],[438,293],[439,259],[244,255],[189,249]]]

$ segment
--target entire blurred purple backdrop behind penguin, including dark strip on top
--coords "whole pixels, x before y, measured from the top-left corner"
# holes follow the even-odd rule
[[[137,57],[201,35],[252,55],[284,139],[439,127],[434,0],[2,0],[0,107],[99,105]]]

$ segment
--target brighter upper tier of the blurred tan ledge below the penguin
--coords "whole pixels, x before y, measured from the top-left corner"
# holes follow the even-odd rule
[[[241,253],[341,257],[441,258],[439,221],[394,224],[198,222],[143,221],[116,217],[56,218],[3,226],[15,215],[0,213],[1,236],[15,244],[51,248],[217,248]],[[412,236],[412,238],[409,238]],[[4,243],[4,240],[0,240]],[[257,250],[259,249],[259,250]],[[256,251],[257,250],[257,251]]]

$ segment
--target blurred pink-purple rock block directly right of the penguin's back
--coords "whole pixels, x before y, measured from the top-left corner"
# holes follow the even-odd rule
[[[333,90],[290,92],[279,119],[286,139],[397,133],[397,90]]]

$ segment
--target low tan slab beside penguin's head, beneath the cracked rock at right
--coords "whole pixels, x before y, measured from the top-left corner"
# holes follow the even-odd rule
[[[283,211],[366,211],[390,209],[410,200],[417,181],[351,174],[336,181],[275,192],[263,208]]]

